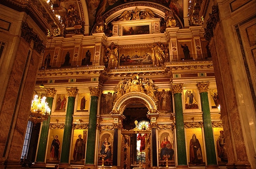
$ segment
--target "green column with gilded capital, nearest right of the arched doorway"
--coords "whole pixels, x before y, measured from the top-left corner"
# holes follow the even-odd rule
[[[183,84],[172,84],[172,91],[174,93],[175,104],[175,121],[176,121],[176,136],[177,136],[177,168],[188,168],[186,157],[186,142],[185,129],[182,109],[182,92]]]

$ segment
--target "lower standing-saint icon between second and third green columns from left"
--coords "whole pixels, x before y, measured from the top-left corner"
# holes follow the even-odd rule
[[[85,154],[86,154],[86,140],[87,131],[86,130],[74,130],[71,149],[71,163],[73,164],[84,164]]]

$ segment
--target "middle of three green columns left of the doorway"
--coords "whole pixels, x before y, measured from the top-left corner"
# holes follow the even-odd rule
[[[69,153],[70,153],[70,141],[72,134],[72,121],[75,105],[75,97],[78,89],[76,87],[66,88],[68,92],[68,105],[66,112],[65,128],[63,133],[61,156],[60,156],[60,166],[69,164]]]

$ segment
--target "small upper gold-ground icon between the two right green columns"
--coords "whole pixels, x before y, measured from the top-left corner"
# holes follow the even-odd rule
[[[197,90],[195,89],[187,89],[184,91],[184,102],[185,102],[185,109],[198,109],[198,96]]]

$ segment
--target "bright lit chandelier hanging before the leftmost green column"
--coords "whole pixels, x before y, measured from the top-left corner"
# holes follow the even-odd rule
[[[40,95],[34,95],[30,108],[29,120],[35,124],[43,122],[48,119],[51,109],[46,102],[46,96],[41,98],[41,90],[44,89],[44,85],[40,85]]]

